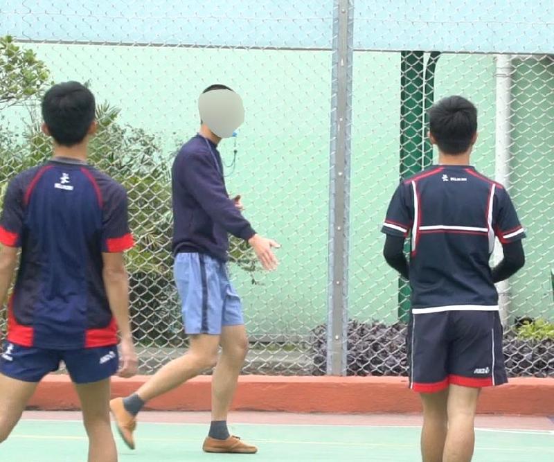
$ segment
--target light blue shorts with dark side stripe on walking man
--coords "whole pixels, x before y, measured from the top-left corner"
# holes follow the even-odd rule
[[[204,254],[177,254],[173,272],[186,334],[220,335],[223,326],[244,324],[225,263]]]

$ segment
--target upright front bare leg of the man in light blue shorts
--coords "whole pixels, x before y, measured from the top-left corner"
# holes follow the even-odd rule
[[[237,388],[238,376],[248,351],[244,326],[224,326],[222,353],[212,377],[212,420],[227,420]]]

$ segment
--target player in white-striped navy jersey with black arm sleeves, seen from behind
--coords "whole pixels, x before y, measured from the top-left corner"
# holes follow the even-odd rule
[[[480,389],[507,382],[494,284],[523,267],[525,233],[506,189],[470,166],[470,101],[451,96],[431,107],[429,138],[439,164],[398,186],[382,229],[384,256],[412,290],[410,387],[423,402],[423,461],[466,462]],[[504,257],[491,269],[495,238]]]

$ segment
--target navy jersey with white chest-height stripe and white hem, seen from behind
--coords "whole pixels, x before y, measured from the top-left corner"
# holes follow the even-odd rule
[[[498,310],[489,265],[495,236],[525,237],[503,186],[469,166],[434,166],[402,181],[382,232],[411,235],[414,313]]]

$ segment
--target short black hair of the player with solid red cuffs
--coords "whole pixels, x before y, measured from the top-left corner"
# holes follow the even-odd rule
[[[42,118],[56,143],[73,146],[83,141],[94,121],[94,95],[79,82],[54,85],[42,99]]]

